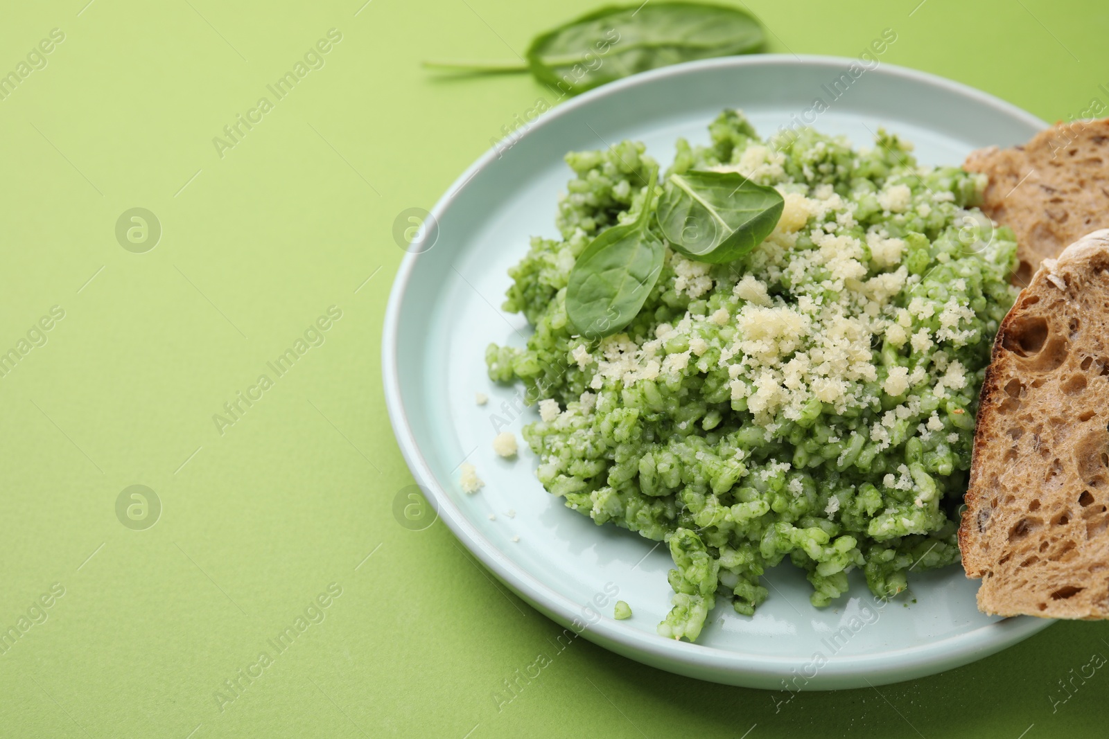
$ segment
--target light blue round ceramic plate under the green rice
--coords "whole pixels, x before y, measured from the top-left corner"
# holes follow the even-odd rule
[[[518,388],[489,381],[484,352],[490,341],[521,346],[529,331],[522,317],[499,309],[506,270],[530,236],[557,236],[556,202],[570,177],[566,152],[638,138],[665,167],[674,140],[708,143],[706,125],[724,107],[742,109],[767,134],[804,116],[817,97],[828,103],[814,122],[818,130],[869,145],[872,132],[885,126],[914,142],[923,163],[958,164],[973,148],[1024,142],[1046,126],[996,97],[920,72],[881,65],[852,79],[852,61],[708,60],[564,102],[462,173],[433,211],[434,246],[407,255],[393,286],[383,347],[389,418],[442,521],[547,616],[574,630],[574,619],[588,624],[584,638],[654,667],[771,690],[865,687],[964,665],[1050,624],[978,613],[978,583],[959,567],[914,573],[909,597],[885,607],[856,573],[847,597],[817,609],[803,573],[786,563],[767,574],[771,595],[754,617],[736,615],[721,598],[696,644],[668,640],[654,630],[670,608],[665,547],[652,550],[645,538],[563,507],[536,480],[536,458],[526,448],[515,461],[492,451],[497,417],[518,437],[537,417],[512,408]],[[488,394],[487,406],[475,402],[478,392]],[[475,495],[458,484],[464,461],[486,483]],[[631,604],[631,619],[612,618],[617,598]]]

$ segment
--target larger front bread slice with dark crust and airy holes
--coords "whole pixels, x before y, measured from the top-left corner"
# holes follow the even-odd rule
[[[1109,617],[1109,229],[1046,259],[981,386],[963,566],[978,608]]]

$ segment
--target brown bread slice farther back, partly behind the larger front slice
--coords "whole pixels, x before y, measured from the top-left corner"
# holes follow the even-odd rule
[[[1109,119],[1057,123],[1024,146],[971,152],[963,167],[989,177],[981,209],[1017,235],[1020,287],[1042,259],[1109,227]]]

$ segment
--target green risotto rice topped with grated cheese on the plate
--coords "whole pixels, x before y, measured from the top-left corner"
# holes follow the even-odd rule
[[[668,247],[635,319],[587,340],[567,319],[570,270],[635,219],[658,165],[632,141],[572,152],[562,238],[533,238],[509,270],[505,308],[535,333],[486,353],[494,380],[539,402],[523,437],[543,486],[669,545],[673,608],[658,630],[689,640],[718,595],[752,615],[786,557],[814,606],[856,568],[893,597],[909,569],[958,561],[978,388],[1016,297],[1011,233],[968,228],[989,229],[974,208],[983,175],[920,166],[884,132],[866,151],[812,130],[763,141],[735,111],[709,131],[710,146],[679,140],[664,174],[775,187],[774,233],[723,265]]]

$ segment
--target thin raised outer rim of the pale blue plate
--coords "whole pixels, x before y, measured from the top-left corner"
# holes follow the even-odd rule
[[[668,76],[696,74],[705,69],[760,66],[767,64],[816,65],[843,69],[855,62],[857,60],[854,58],[824,54],[750,54],[673,64],[610,82],[582,93],[577,97],[572,97],[560,105],[556,105],[550,112],[545,113],[533,121],[520,136],[533,136],[538,131],[550,125],[556,119],[587,106],[593,100],[611,94],[612,92],[650,84],[655,80]],[[962,82],[955,82],[954,80],[948,80],[929,72],[922,72],[888,63],[879,65],[872,71],[872,73],[874,72],[909,79],[918,83],[943,88],[950,92],[975,97],[979,102],[1010,116],[1021,119],[1038,129],[1049,127],[1046,121],[1017,105]],[[498,148],[495,145],[478,157],[477,161],[450,184],[430,209],[430,215],[436,223],[439,222],[444,212],[454,203],[469,181],[496,158],[498,158]],[[536,606],[537,609],[556,623],[567,626],[578,618],[582,605],[559,594],[522,566],[513,563],[501,554],[492,545],[492,542],[481,535],[462,511],[452,503],[449,495],[446,494],[446,491],[435,478],[408,423],[400,393],[400,368],[398,363],[399,321],[401,304],[419,257],[420,254],[407,253],[401,259],[389,290],[381,331],[381,381],[389,422],[393,427],[397,444],[400,448],[400,453],[413,476],[416,479],[417,484],[431,493],[435,499],[433,502],[438,517],[444,520],[447,527],[450,528],[451,534],[471,554],[477,556],[487,569],[492,572],[498,579],[511,588],[513,593],[530,605]],[[817,682],[817,685],[810,686],[806,682],[801,689],[823,690],[849,687],[845,685],[845,678],[849,681],[852,677],[866,678],[875,676],[878,677],[879,685],[924,677],[995,654],[1017,642],[1028,638],[1054,623],[1055,619],[1032,616],[1010,617],[987,624],[971,632],[914,647],[891,649],[869,655],[833,656],[821,668],[818,677],[822,679],[810,680],[811,682]],[[665,666],[660,667],[660,669],[715,681],[732,682],[732,680],[724,679],[724,676],[730,676],[735,678],[750,677],[757,681],[769,682],[777,678],[788,677],[791,668],[795,670],[797,667],[797,661],[794,658],[749,654],[689,642],[675,642],[627,627],[608,616],[602,616],[594,624],[587,625],[581,635],[607,649],[617,650],[638,661],[643,660],[638,656],[631,656],[629,653],[649,655],[652,657],[651,661],[655,665],[665,663]],[[978,656],[971,659],[958,658],[959,655],[967,654]],[[832,680],[834,685],[821,685],[821,682],[825,682],[830,678],[837,678]],[[733,684],[740,685],[742,682],[741,679]]]

